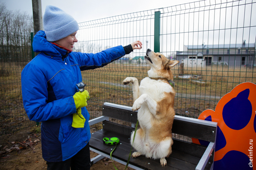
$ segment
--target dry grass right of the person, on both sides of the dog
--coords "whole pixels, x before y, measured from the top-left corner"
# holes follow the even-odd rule
[[[149,66],[137,67],[134,65],[108,64],[104,68],[84,71],[84,78],[88,84],[91,96],[100,102],[117,103],[132,106],[132,88],[123,86],[126,77],[136,77],[140,81],[147,76]],[[173,68],[175,77],[174,107],[177,115],[198,117],[205,109],[215,109],[220,98],[230,92],[236,85],[249,81],[256,83],[256,69],[246,68],[218,68],[208,67],[203,70],[183,70],[184,74],[197,75],[206,85],[198,85],[191,79],[178,78],[178,66]],[[97,103],[97,102],[96,102]],[[99,104],[99,103],[97,103]]]

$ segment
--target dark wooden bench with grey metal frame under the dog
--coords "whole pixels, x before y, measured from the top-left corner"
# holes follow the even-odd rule
[[[115,148],[116,145],[105,144],[103,142],[103,138],[118,137],[120,142],[117,144],[115,151],[112,153],[112,159],[126,165],[129,153],[131,151],[130,136],[132,131],[135,129],[137,112],[133,112],[132,107],[104,103],[102,115],[103,116],[89,121],[89,125],[103,121],[103,129],[92,133],[92,137],[89,142],[90,150],[100,154],[91,159],[91,162],[93,164],[104,157],[110,158],[110,152]],[[112,118],[118,119],[118,121],[109,121],[109,119]],[[123,125],[123,121],[130,122],[131,127]],[[216,122],[209,122],[176,115],[172,126],[172,133],[205,140],[210,142],[210,144],[208,146],[203,146],[173,138],[172,154],[169,156],[169,158],[166,158],[166,166],[162,167],[160,165],[160,159],[149,159],[142,155],[137,158],[131,157],[128,166],[137,170],[213,169],[216,130]],[[132,148],[132,153],[133,152],[135,152],[135,150]]]

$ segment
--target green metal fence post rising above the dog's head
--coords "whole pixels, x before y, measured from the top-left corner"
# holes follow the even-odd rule
[[[154,52],[160,52],[160,11],[155,12]]]

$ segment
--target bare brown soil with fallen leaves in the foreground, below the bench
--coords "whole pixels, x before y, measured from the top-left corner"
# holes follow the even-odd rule
[[[42,158],[41,135],[31,129],[21,129],[15,134],[0,136],[0,170],[40,170],[47,169]],[[91,151],[91,158],[97,156]],[[114,161],[117,169],[125,166]],[[115,170],[111,159],[101,159],[91,166],[91,170]],[[133,170],[128,167],[127,169]]]

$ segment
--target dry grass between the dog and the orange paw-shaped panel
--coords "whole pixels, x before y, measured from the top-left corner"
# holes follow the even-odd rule
[[[195,84],[191,79],[178,78],[180,70],[176,68],[175,90],[178,94],[175,102],[176,114],[198,117],[205,109],[215,109],[222,96],[236,85],[244,82],[256,83],[256,69],[246,67],[207,67],[183,70],[184,74],[196,75],[205,85]],[[192,78],[193,79],[193,78]]]

